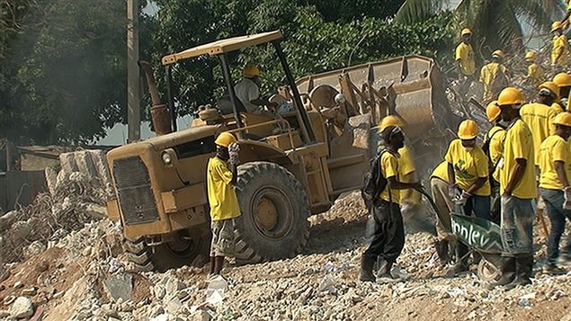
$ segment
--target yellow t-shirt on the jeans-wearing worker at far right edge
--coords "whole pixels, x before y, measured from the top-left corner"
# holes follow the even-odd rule
[[[563,184],[559,181],[558,173],[555,171],[555,161],[564,164],[567,179],[571,178],[571,155],[569,155],[569,144],[558,135],[551,135],[541,143],[540,149],[540,187],[550,190],[562,190]]]

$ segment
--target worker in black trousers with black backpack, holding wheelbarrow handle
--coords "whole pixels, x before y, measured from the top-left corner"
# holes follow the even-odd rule
[[[375,222],[373,239],[361,256],[361,281],[376,281],[373,265],[377,263],[379,279],[392,279],[390,269],[397,261],[405,245],[405,229],[398,205],[401,190],[421,189],[420,183],[402,183],[398,178],[398,152],[405,146],[405,135],[398,126],[388,126],[380,133],[381,144],[385,147],[380,154],[380,174],[387,185],[372,207]]]

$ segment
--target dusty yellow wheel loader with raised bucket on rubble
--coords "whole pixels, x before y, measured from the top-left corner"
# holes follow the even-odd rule
[[[308,217],[328,210],[343,192],[361,187],[371,155],[370,129],[382,116],[401,112],[424,138],[448,121],[442,116],[451,114],[446,98],[440,99],[443,91],[434,92],[431,85],[439,77],[432,59],[411,56],[296,83],[280,40],[281,32],[271,31],[165,56],[167,80],[172,67],[185,59],[219,58],[228,93],[228,99],[202,109],[191,128],[174,132],[174,91],[168,90],[168,103],[161,104],[151,68],[142,64],[157,136],[107,154],[117,196],[108,202],[109,217],[122,223],[124,247],[138,269],[165,270],[207,253],[206,166],[220,132],[234,133],[240,145],[236,193],[242,216],[236,221],[236,260],[255,263],[298,254],[308,241]],[[291,108],[275,117],[245,112],[228,66],[228,53],[263,44],[275,49],[287,80],[271,101]],[[442,104],[433,106],[437,96]],[[398,106],[401,99],[405,108]],[[445,134],[439,135],[433,138]]]

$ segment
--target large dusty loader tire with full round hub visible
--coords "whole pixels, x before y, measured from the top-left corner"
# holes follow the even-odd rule
[[[236,263],[279,260],[307,244],[310,215],[304,187],[288,170],[269,162],[238,167]]]

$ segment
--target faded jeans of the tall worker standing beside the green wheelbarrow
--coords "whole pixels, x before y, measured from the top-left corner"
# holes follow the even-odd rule
[[[504,256],[533,253],[535,200],[502,196],[502,246]]]

